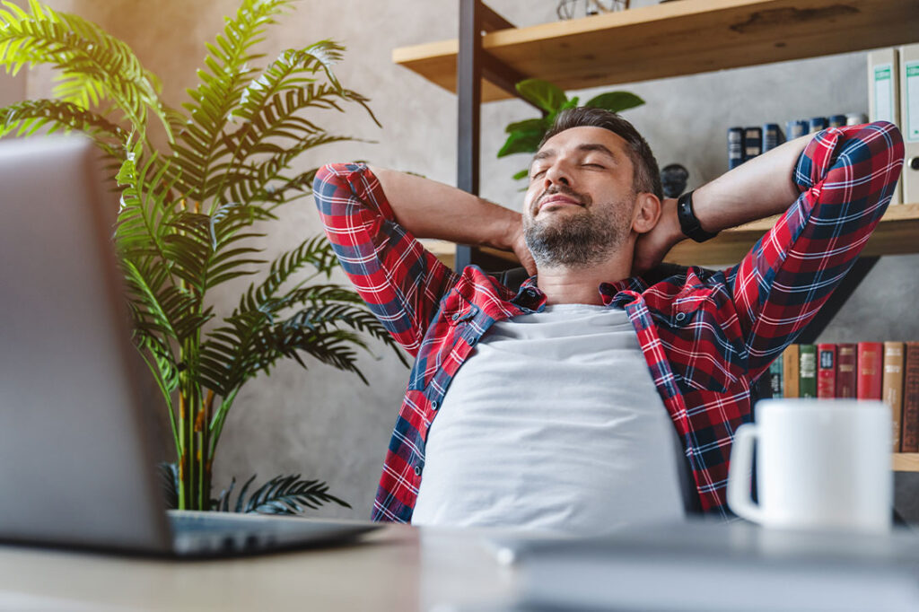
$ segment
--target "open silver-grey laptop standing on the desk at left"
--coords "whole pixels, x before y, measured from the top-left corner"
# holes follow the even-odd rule
[[[165,510],[163,408],[142,392],[98,157],[82,137],[0,142],[0,541],[213,557],[379,527]]]

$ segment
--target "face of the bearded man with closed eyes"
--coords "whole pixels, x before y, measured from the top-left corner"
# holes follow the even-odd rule
[[[523,210],[537,266],[596,264],[625,243],[636,197],[628,146],[594,127],[564,130],[542,145]]]

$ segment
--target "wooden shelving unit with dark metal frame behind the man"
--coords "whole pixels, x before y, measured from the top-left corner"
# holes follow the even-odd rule
[[[395,49],[392,61],[457,93],[457,185],[478,194],[480,105],[515,97],[514,84],[525,78],[576,90],[916,41],[916,0],[679,0],[529,28],[515,28],[482,0],[459,0],[459,39]],[[705,244],[685,241],[667,261],[736,263],[773,221],[726,230]],[[428,246],[458,268],[516,265],[513,255],[493,250]],[[919,253],[919,203],[893,206],[834,292],[835,303],[823,307],[800,341],[819,334],[879,255],[912,253]],[[919,471],[919,454],[897,454],[893,464]]]

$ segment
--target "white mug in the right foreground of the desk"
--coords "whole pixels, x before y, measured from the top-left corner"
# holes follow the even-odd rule
[[[735,433],[728,506],[737,516],[765,527],[883,532],[892,504],[891,409],[882,402],[764,400],[755,423]]]

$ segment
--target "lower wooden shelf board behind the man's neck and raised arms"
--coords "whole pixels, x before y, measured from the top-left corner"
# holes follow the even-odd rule
[[[750,248],[775,223],[777,217],[769,217],[720,232],[706,243],[698,244],[685,240],[677,244],[667,255],[666,261],[683,266],[732,266],[746,255]],[[884,213],[877,229],[868,239],[862,255],[904,255],[919,253],[919,204],[897,204]],[[453,267],[456,244],[438,240],[422,241],[428,251],[437,259]],[[504,251],[482,249],[489,255],[505,259],[508,267],[519,266],[516,257]]]

